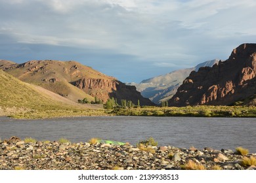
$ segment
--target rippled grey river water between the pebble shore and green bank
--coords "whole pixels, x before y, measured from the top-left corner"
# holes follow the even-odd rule
[[[256,153],[256,118],[195,118],[100,116],[14,120],[0,118],[0,138],[32,137],[39,141],[87,142],[91,138],[129,142],[136,145],[153,137],[158,146],[235,150],[242,146]]]

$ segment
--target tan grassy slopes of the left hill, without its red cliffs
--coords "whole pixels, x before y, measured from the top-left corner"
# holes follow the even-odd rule
[[[11,61],[0,60],[0,69],[4,69],[5,72],[24,82],[36,84],[75,102],[84,98],[88,101],[95,99],[70,84],[71,82],[81,78],[114,80],[113,77],[76,61],[33,60],[18,65]]]

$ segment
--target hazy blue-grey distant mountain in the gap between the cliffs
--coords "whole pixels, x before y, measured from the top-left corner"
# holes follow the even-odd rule
[[[143,97],[149,98],[152,102],[159,104],[161,101],[171,99],[177,92],[177,89],[182,84],[183,80],[192,72],[198,71],[200,67],[212,67],[219,63],[219,59],[205,61],[196,65],[196,67],[188,69],[180,69],[166,75],[156,76],[154,78],[142,80],[139,84],[127,83],[136,86],[137,90]]]

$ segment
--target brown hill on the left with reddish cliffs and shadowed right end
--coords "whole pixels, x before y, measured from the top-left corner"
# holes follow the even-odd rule
[[[39,85],[58,93],[72,101],[94,97],[104,102],[110,97],[132,100],[140,105],[152,105],[149,99],[143,98],[136,88],[125,86],[112,76],[106,76],[91,67],[76,61],[33,60],[22,64],[10,64],[0,60],[0,69],[20,80]]]

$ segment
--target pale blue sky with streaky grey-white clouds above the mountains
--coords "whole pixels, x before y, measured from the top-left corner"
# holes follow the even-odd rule
[[[256,42],[255,0],[0,0],[0,59],[75,60],[140,82]]]

